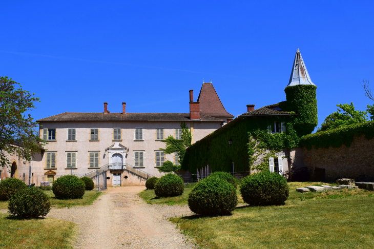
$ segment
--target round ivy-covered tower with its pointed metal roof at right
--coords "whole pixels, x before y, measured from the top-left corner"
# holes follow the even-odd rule
[[[318,125],[317,87],[311,81],[305,63],[297,49],[294,65],[287,87],[284,110],[294,111],[299,115],[293,122],[299,136],[310,134]]]

